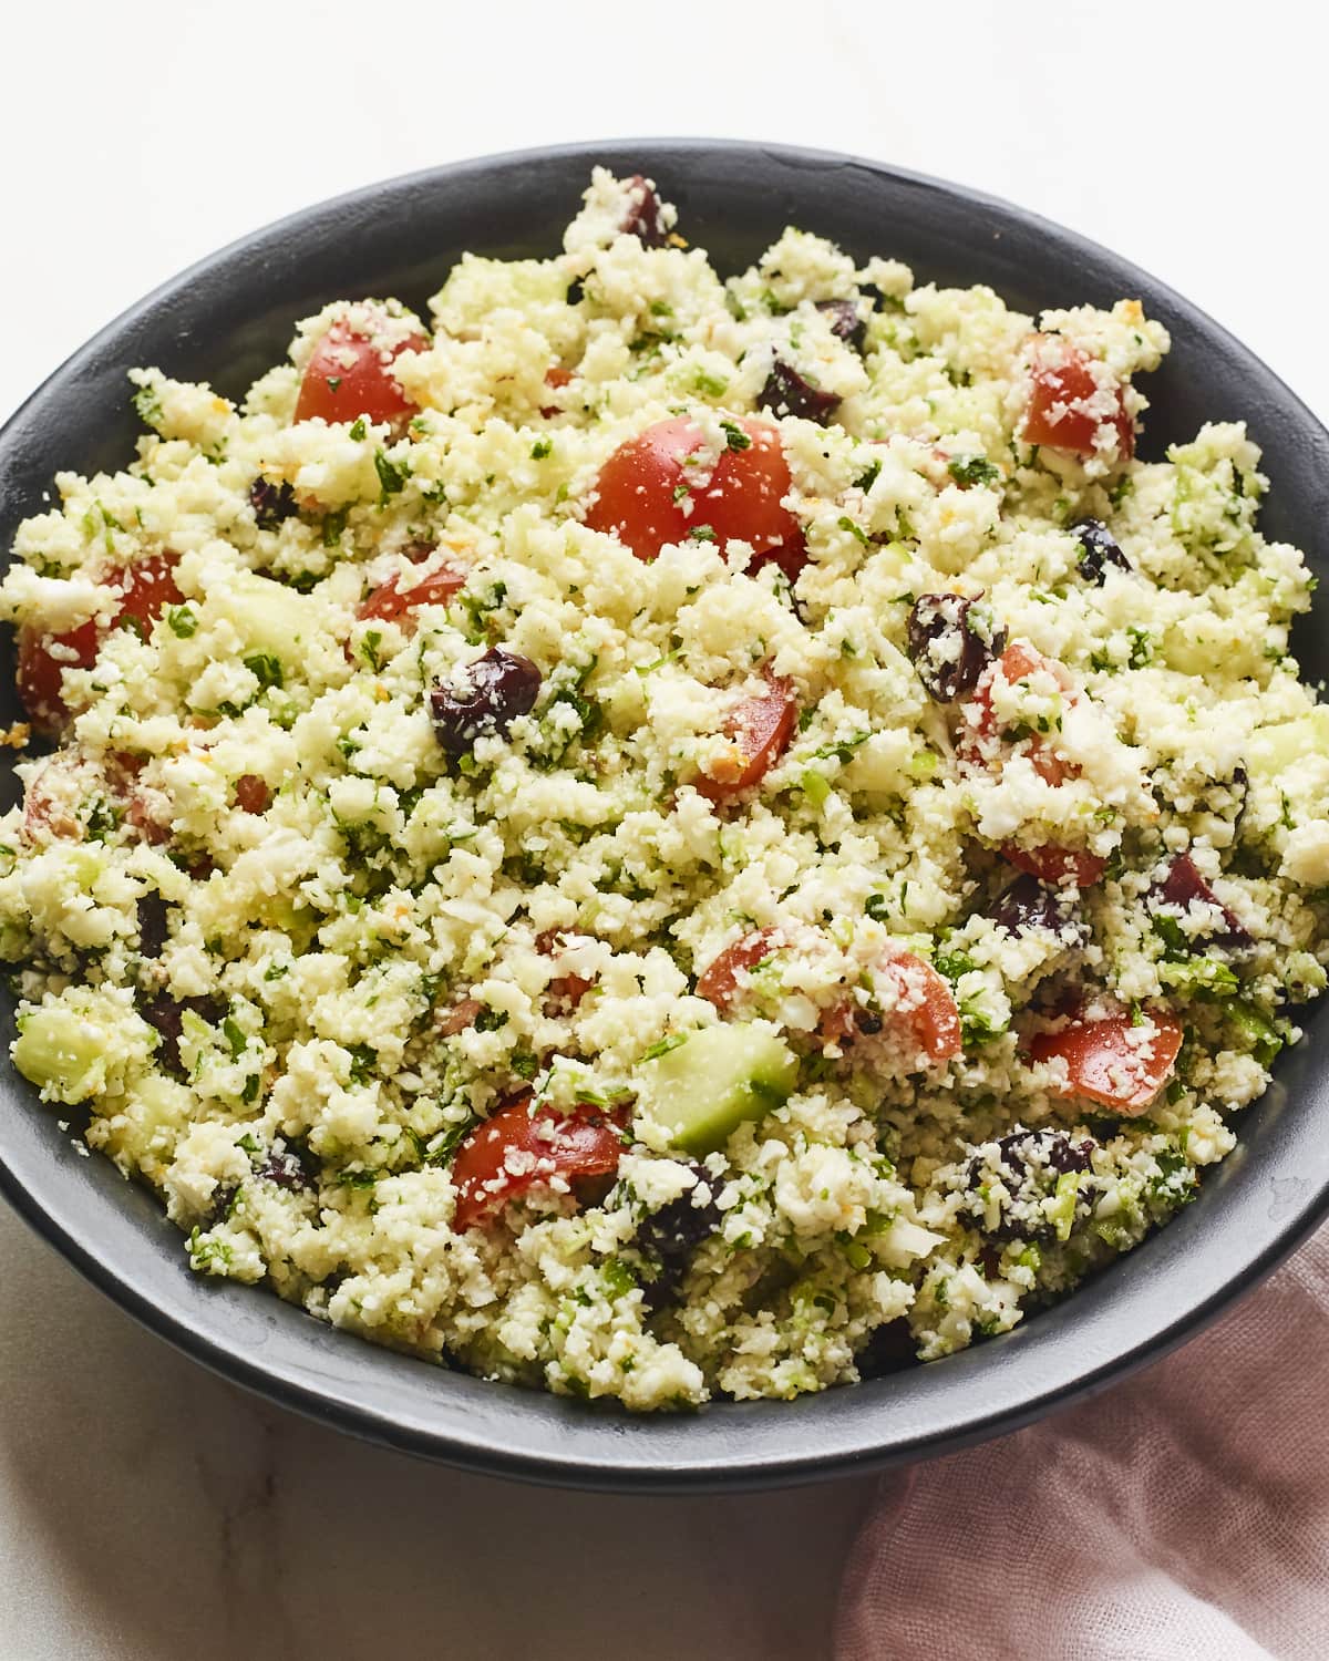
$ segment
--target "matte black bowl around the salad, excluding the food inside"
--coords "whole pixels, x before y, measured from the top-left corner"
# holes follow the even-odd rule
[[[339,296],[422,304],[465,251],[550,254],[595,163],[646,173],[723,271],[784,224],[922,279],[987,282],[1025,311],[1138,296],[1173,337],[1148,380],[1146,455],[1206,419],[1249,422],[1273,492],[1263,525],[1324,566],[1329,435],[1258,359],[1161,282],[1033,214],[847,156],[701,140],[571,145],[468,161],[311,208],[204,259],[105,329],[0,434],[0,546],[51,473],[116,468],[136,420],[125,372],[158,364],[226,394],[276,362],[296,317]],[[1329,669],[1329,588],[1297,638]],[[3,674],[3,714],[17,706]],[[5,1015],[12,1026],[12,1010]],[[929,1367],[792,1404],[638,1417],[440,1372],[334,1332],[276,1297],[189,1274],[145,1189],[81,1158],[56,1113],[0,1073],[0,1189],[145,1325],[238,1384],[359,1435],[475,1470],[600,1488],[738,1488],[902,1463],[1013,1430],[1193,1335],[1329,1211],[1329,1007],[1246,1111],[1241,1146],[1198,1201],[1057,1307]],[[1296,1365],[1296,1357],[1289,1357]]]

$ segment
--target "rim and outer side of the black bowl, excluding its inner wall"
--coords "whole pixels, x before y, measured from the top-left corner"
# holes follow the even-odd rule
[[[1299,434],[1329,458],[1329,434],[1319,419],[1226,329],[1131,261],[1042,214],[967,186],[837,151],[746,140],[626,138],[502,151],[424,168],[327,198],[236,238],[126,307],[55,369],[0,429],[0,460],[8,447],[30,439],[30,429],[43,419],[48,405],[53,409],[61,404],[78,379],[80,365],[113,345],[133,326],[168,311],[173,301],[188,294],[199,281],[214,279],[238,261],[249,261],[256,252],[261,254],[297,233],[326,234],[339,219],[370,203],[382,204],[385,198],[409,196],[442,181],[483,179],[545,161],[578,161],[588,174],[593,164],[623,154],[640,158],[640,171],[646,174],[658,173],[663,161],[686,163],[703,154],[736,161],[764,159],[771,166],[799,171],[859,168],[925,196],[960,203],[977,218],[1045,236],[1058,254],[1078,257],[1095,271],[1106,269],[1113,281],[1148,292],[1155,307],[1161,302],[1173,316],[1188,319],[1201,336],[1219,344],[1246,367],[1264,394],[1274,399],[1278,410],[1291,417]],[[885,239],[889,238],[884,234]],[[1306,1048],[1307,1040],[1302,1040],[1299,1050]],[[1297,1086],[1311,1078],[1304,1053],[1292,1071],[1297,1075],[1292,1080],[1294,1093],[1301,1093]],[[13,1091],[15,1081],[27,1093],[27,1085],[17,1080],[17,1073],[0,1086],[3,1093]],[[1276,1080],[1261,1100],[1278,1098],[1273,1111],[1281,1113],[1286,1096],[1287,1088]],[[35,1095],[30,1101],[35,1105]],[[542,1392],[440,1375],[419,1359],[379,1349],[351,1334],[334,1334],[299,1309],[281,1304],[266,1287],[259,1289],[266,1294],[262,1301],[276,1306],[269,1311],[272,1319],[264,1320],[272,1329],[272,1342],[264,1342],[257,1355],[251,1355],[236,1340],[239,1325],[234,1320],[233,1296],[249,1299],[256,1289],[228,1284],[224,1289],[208,1289],[203,1297],[186,1297],[173,1287],[163,1294],[159,1276],[151,1291],[145,1289],[135,1267],[126,1269],[125,1252],[106,1252],[98,1231],[101,1219],[80,1213],[63,1173],[65,1161],[50,1158],[48,1139],[43,1164],[40,1158],[33,1158],[32,1149],[7,1146],[8,1136],[0,1124],[0,1193],[48,1244],[141,1325],[214,1374],[312,1420],[449,1465],[547,1485],[635,1492],[741,1490],[862,1473],[1003,1435],[1053,1409],[1101,1392],[1193,1337],[1259,1284],[1329,1214],[1329,1153],[1316,1158],[1307,1123],[1309,1106],[1302,1103],[1302,1134],[1292,1136],[1291,1146],[1282,1149],[1279,1174],[1264,1173],[1268,1188],[1256,1184],[1254,1173],[1243,1181],[1243,1144],[1224,1161],[1236,1161],[1238,1166],[1238,1179],[1223,1189],[1226,1209],[1233,1213],[1233,1226],[1244,1229],[1236,1236],[1243,1247],[1236,1272],[1219,1271],[1216,1257],[1223,1254],[1214,1252],[1213,1242],[1208,1252],[1201,1249],[1206,1232],[1203,1208],[1191,1208],[1158,1234],[1158,1239],[1171,1241],[1176,1247],[1168,1256],[1179,1259],[1170,1264],[1166,1277],[1151,1281],[1138,1262],[1145,1257],[1145,1247],[1140,1247],[1057,1306],[1075,1307],[1070,1339],[1062,1327],[1052,1334],[1043,1330],[1048,1342],[1042,1342],[1040,1324],[1045,1317],[1040,1316],[1022,1322],[993,1344],[977,1345],[945,1362],[894,1379],[787,1404],[714,1404],[686,1417],[628,1415],[620,1410],[601,1414],[595,1405]],[[42,1113],[48,1115],[50,1110],[43,1108]],[[1289,1120],[1281,1126],[1284,1141],[1296,1129],[1297,1115]],[[113,1171],[110,1161],[105,1163]],[[154,1198],[151,1204],[158,1204]],[[108,1208],[108,1214],[113,1214],[113,1208]],[[169,1237],[176,1239],[174,1227],[164,1226]],[[1189,1237],[1194,1234],[1201,1241],[1188,1256]],[[153,1277],[143,1279],[151,1282]],[[199,1284],[193,1276],[188,1279],[193,1286]],[[1166,1287],[1161,1286],[1163,1279]],[[1120,1337],[1121,1312],[1113,1307],[1121,1302],[1136,1316],[1148,1312],[1140,1332],[1125,1344]],[[284,1314],[277,1316],[276,1311]],[[302,1322],[299,1330],[282,1330],[287,1314]],[[1108,1337],[1110,1332],[1115,1335]],[[311,1334],[334,1337],[346,1349],[354,1345],[362,1355],[352,1355],[347,1365],[339,1365],[324,1339],[309,1342]],[[322,1365],[314,1367],[304,1359],[304,1352],[321,1355]],[[402,1394],[420,1394],[407,1390],[402,1367],[434,1382],[437,1395],[432,1412],[402,1409]],[[987,1390],[975,1390],[972,1375],[985,1382]],[[907,1387],[897,1380],[917,1377],[935,1384],[929,1382],[925,1399],[910,1402]],[[440,1387],[444,1380],[449,1380],[457,1400],[450,1400],[449,1392]],[[483,1390],[485,1399],[477,1397],[472,1387]],[[952,1397],[959,1400],[959,1410],[947,1405]],[[844,1410],[819,1412],[832,1399],[844,1402]],[[847,1405],[851,1400],[856,1405]]]

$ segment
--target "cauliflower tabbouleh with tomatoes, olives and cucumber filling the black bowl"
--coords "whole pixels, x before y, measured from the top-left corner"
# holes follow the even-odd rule
[[[1326,978],[1311,578],[1239,424],[1135,458],[1166,349],[796,229],[721,281],[596,171],[557,257],[327,306],[239,405],[135,372],[0,590],[58,741],[18,1068],[199,1272],[488,1379],[1015,1325]]]

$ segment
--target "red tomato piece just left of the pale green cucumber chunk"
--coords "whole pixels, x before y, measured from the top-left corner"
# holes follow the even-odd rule
[[[490,1221],[508,1201],[555,1176],[571,1186],[611,1178],[621,1153],[623,1138],[608,1115],[595,1108],[532,1111],[527,1091],[477,1124],[457,1148],[454,1227]]]

